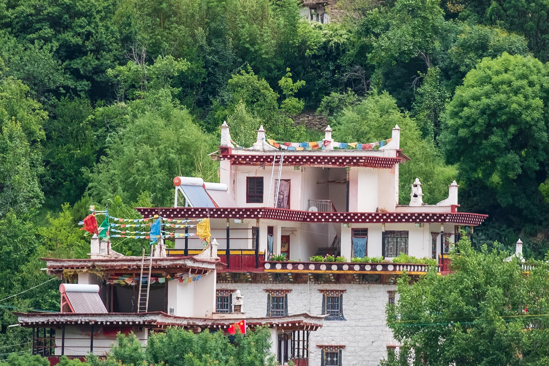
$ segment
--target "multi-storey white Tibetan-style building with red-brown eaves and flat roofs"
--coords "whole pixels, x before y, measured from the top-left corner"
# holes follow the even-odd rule
[[[61,285],[59,314],[18,314],[39,340],[35,353],[101,354],[116,331],[133,330],[146,342],[150,330],[167,325],[204,331],[240,319],[271,327],[281,365],[373,366],[398,348],[385,324],[386,305],[395,301],[399,275],[417,277],[428,266],[393,259],[434,258],[443,274],[460,229],[486,216],[459,212],[456,182],[449,182],[448,198],[428,205],[416,179],[410,201],[399,202],[399,165],[409,159],[398,126],[369,144],[335,142],[329,126],[312,143],[278,142],[265,133],[260,127],[253,147],[242,148],[223,123],[214,155],[220,183],[176,177],[174,207],[137,208],[163,219],[163,239],[175,241],[165,249],[160,240],[150,264],[97,238],[87,260],[44,259],[48,273],[78,285]],[[204,218],[206,247],[193,225],[178,224]],[[339,258],[321,261],[326,256]],[[144,282],[150,286],[143,312]]]

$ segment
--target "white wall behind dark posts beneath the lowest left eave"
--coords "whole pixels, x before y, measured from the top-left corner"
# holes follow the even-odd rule
[[[116,327],[111,327],[116,331]],[[147,344],[147,329],[133,328],[133,333]],[[61,335],[62,329],[55,330],[55,356],[61,355]],[[66,325],[65,326],[65,354],[68,356],[86,356],[89,353],[91,339],[91,326],[86,325]],[[104,335],[102,326],[94,326],[93,331],[93,353],[102,356],[110,350],[111,343],[116,343],[116,335]]]

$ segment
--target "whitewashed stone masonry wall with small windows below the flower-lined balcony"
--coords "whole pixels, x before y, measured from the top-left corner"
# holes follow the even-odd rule
[[[266,289],[291,289],[288,293],[288,314],[322,314],[322,292],[345,290],[343,316],[346,320],[324,320],[321,329],[310,336],[309,365],[320,366],[322,350],[317,345],[345,345],[341,354],[343,366],[378,366],[386,358],[387,345],[395,345],[385,323],[385,306],[394,285],[381,284],[261,284],[218,283],[217,289],[240,290],[244,297],[246,317],[265,317]],[[340,293],[340,291],[333,291]]]

